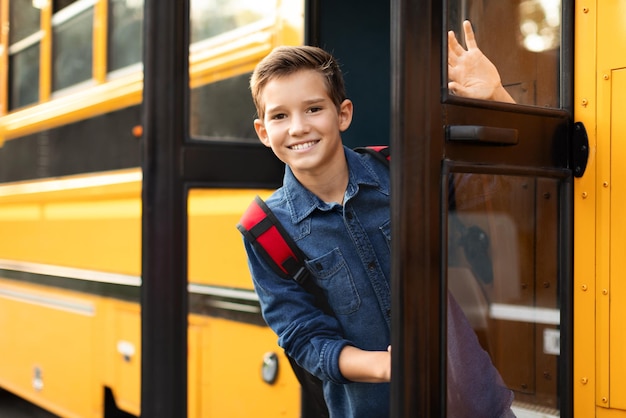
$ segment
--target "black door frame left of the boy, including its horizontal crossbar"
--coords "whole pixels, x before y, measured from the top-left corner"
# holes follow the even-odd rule
[[[189,0],[146,0],[143,63],[141,413],[186,417],[189,190],[275,188],[284,167],[260,143],[190,137]]]

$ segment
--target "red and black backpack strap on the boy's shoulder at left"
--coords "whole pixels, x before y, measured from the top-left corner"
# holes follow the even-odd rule
[[[281,277],[301,284],[306,280],[304,253],[259,196],[250,203],[237,229]]]

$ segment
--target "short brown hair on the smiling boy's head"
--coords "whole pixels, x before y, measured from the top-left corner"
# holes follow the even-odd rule
[[[252,100],[259,118],[265,116],[261,93],[267,83],[300,70],[318,71],[324,77],[328,95],[339,109],[346,99],[346,89],[337,60],[314,46],[279,46],[259,62],[250,77]]]

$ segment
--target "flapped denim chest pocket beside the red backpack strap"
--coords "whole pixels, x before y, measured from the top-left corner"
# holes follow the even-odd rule
[[[339,248],[307,261],[307,266],[336,315],[348,315],[359,309],[361,299]]]

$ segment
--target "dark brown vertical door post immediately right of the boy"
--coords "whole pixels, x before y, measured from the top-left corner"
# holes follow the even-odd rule
[[[394,417],[440,417],[445,402],[441,215],[434,193],[444,152],[437,123],[442,12],[438,1],[391,2]]]

